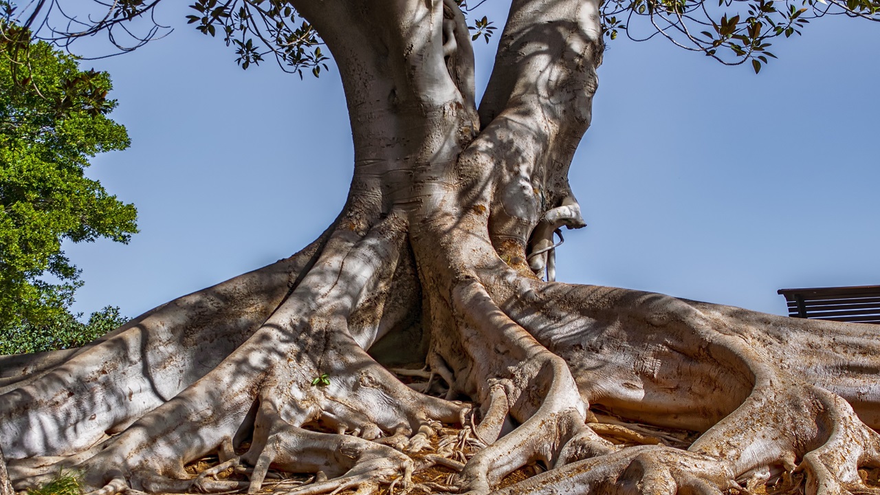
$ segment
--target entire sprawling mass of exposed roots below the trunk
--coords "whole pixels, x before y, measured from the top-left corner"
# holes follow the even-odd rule
[[[576,220],[573,206],[563,206],[571,213],[566,218]],[[126,395],[106,388],[113,400],[101,406],[108,409],[99,411],[103,417],[95,413],[106,429],[84,417],[94,404],[86,408],[72,398],[62,412],[72,407],[76,414],[59,413],[70,417],[62,436],[84,432],[84,439],[77,437],[81,445],[43,445],[38,440],[51,428],[22,430],[45,420],[40,408],[28,409],[33,404],[63,402],[59,390],[74,379],[54,380],[68,365],[50,366],[56,357],[47,357],[19,366],[9,377],[18,380],[24,373],[22,387],[0,395],[0,413],[15,419],[3,435],[22,440],[11,445],[26,457],[9,463],[15,487],[32,487],[58,468],[74,468],[84,471],[84,485],[97,495],[880,494],[869,483],[876,476],[865,470],[880,471],[880,435],[856,416],[862,411],[876,419],[880,395],[862,387],[861,375],[833,390],[811,382],[843,366],[833,358],[814,358],[824,366],[818,373],[780,356],[776,349],[789,335],[814,342],[784,326],[801,323],[758,321],[658,294],[546,284],[506,268],[487,243],[469,246],[480,270],[468,268],[473,260],[440,249],[444,267],[456,265],[451,276],[430,274],[430,262],[417,274],[407,219],[399,212],[367,217],[343,218],[292,290],[275,287],[285,293],[270,314],[257,305],[256,315],[230,323],[244,333],[229,337],[240,340],[229,352],[232,341],[217,344],[224,357],[211,359],[219,362],[189,355],[181,368],[165,356],[160,362],[171,369],[156,375],[134,373],[130,363],[118,372],[105,370],[112,374],[106,379],[101,367],[82,372],[76,380],[95,378],[105,388],[106,380],[121,380],[119,388],[144,386],[155,376],[177,381],[147,390],[149,401],[129,404],[118,417],[114,401]],[[553,226],[561,218],[547,221]],[[419,276],[442,290],[421,303],[424,294],[417,291],[392,294],[399,287],[392,278],[410,277],[404,286],[413,287]],[[401,301],[406,307],[386,311]],[[425,313],[419,324],[429,327],[419,331],[429,332],[431,342],[422,346],[423,361],[412,364],[426,367],[381,366],[365,348],[414,325],[419,311]],[[172,314],[159,308],[142,322]],[[193,321],[188,318],[163,320],[161,331],[150,332],[167,337],[160,344],[205,337],[201,326],[186,335]],[[262,321],[253,327],[255,319]],[[70,366],[102,355],[104,346],[119,344],[117,354],[131,351],[122,344],[131,344],[135,333],[135,327],[123,329],[74,351]],[[880,345],[843,334],[844,344],[834,345],[849,359],[847,376],[880,369],[874,357]],[[159,351],[133,352],[155,357]],[[211,369],[187,368],[194,363]],[[126,373],[135,378],[122,380]],[[412,383],[418,380],[426,381]],[[46,395],[38,396],[40,389]],[[137,394],[128,401],[136,402]],[[851,402],[859,398],[856,411],[844,395]],[[473,403],[452,400],[458,398]],[[27,417],[16,417],[16,408]],[[62,428],[58,417],[52,421]],[[697,433],[685,430],[702,433],[693,441]],[[206,455],[210,462],[187,467]]]

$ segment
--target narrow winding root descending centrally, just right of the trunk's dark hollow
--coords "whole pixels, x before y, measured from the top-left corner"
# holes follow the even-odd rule
[[[536,462],[553,468],[613,450],[586,427],[587,404],[561,358],[510,321],[480,284],[459,286],[454,302],[471,376],[480,377],[472,386],[482,420],[469,431],[486,446],[455,478],[462,491],[486,493]]]

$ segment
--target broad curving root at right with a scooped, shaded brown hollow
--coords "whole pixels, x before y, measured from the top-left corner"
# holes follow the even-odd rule
[[[595,299],[586,289],[568,291],[568,299],[575,299],[572,296],[578,291]],[[840,395],[805,383],[803,375],[792,373],[785,363],[777,366],[774,352],[778,350],[763,347],[769,339],[762,329],[752,326],[751,321],[739,321],[730,315],[723,318],[707,316],[702,310],[708,305],[697,309],[685,301],[656,294],[592,292],[598,292],[595,295],[603,298],[599,309],[592,314],[584,311],[580,317],[570,315],[567,319],[558,317],[560,319],[555,320],[548,318],[550,314],[534,317],[539,314],[534,308],[529,313],[522,313],[533,332],[536,321],[564,322],[550,325],[554,332],[545,330],[543,334],[540,331],[537,334],[544,339],[542,342],[554,335],[566,335],[563,344],[557,346],[557,351],[562,351],[563,355],[576,352],[577,358],[581,358],[590,339],[598,337],[608,339],[599,342],[625,339],[627,349],[623,351],[627,354],[624,363],[636,355],[634,352],[642,350],[639,355],[643,361],[634,362],[631,368],[620,367],[620,361],[615,363],[613,358],[605,361],[592,358],[596,365],[581,368],[588,373],[578,377],[585,397],[598,395],[602,401],[612,404],[605,406],[603,403],[604,407],[612,411],[620,408],[637,417],[650,417],[646,413],[652,410],[662,414],[668,408],[667,404],[689,405],[690,401],[694,402],[689,407],[700,410],[702,404],[695,401],[695,392],[691,390],[689,395],[683,394],[678,391],[676,383],[703,380],[701,386],[708,392],[701,397],[706,404],[703,410],[721,413],[721,420],[701,435],[689,451],[683,451],[663,444],[684,447],[682,444],[686,443],[686,438],[674,438],[652,431],[652,428],[597,415],[600,423],[615,425],[590,426],[594,431],[604,433],[606,438],[616,436],[615,443],[624,446],[620,451],[557,466],[550,473],[516,484],[512,491],[499,492],[670,495],[749,493],[759,489],[777,492],[803,490],[809,495],[878,492],[867,482],[864,473],[867,472],[865,468],[878,466],[880,437],[862,423]],[[533,296],[532,299],[534,303],[534,299],[541,298]],[[592,302],[597,303],[596,300]],[[615,308],[616,313],[603,314],[602,307]],[[564,313],[570,309],[561,307],[559,311]],[[512,311],[517,314],[516,307]],[[603,321],[605,318],[610,321]],[[612,332],[617,329],[614,326],[616,321],[626,321],[627,326],[622,331],[617,330],[615,335]],[[573,330],[576,325],[579,328]],[[658,332],[661,327],[662,332]],[[853,338],[847,344],[849,342],[858,341]],[[597,349],[600,350],[601,347]],[[652,361],[659,366],[646,366]],[[713,366],[715,370],[712,370]],[[708,373],[700,374],[701,368]],[[719,369],[723,373],[719,374]],[[620,387],[621,382],[627,387]],[[737,382],[751,382],[751,394],[745,395],[737,408],[728,409],[728,404],[744,391],[742,387],[735,388],[733,394],[728,391],[731,384]],[[639,389],[641,395],[631,391]],[[866,390],[867,395],[873,393]],[[678,410],[673,411],[681,414]],[[693,415],[690,410],[682,412],[685,418]],[[657,417],[663,419],[662,415]],[[690,424],[702,425],[705,419],[693,417]],[[658,445],[626,447],[633,443]],[[781,482],[783,478],[784,483]],[[796,480],[803,480],[803,483]]]

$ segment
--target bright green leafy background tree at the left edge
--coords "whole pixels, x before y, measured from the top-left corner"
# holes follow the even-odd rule
[[[8,4],[0,8],[11,11]],[[67,307],[82,285],[62,240],[136,233],[134,205],[85,176],[89,159],[124,150],[126,129],[107,115],[106,72],[30,43],[30,33],[0,19],[0,329],[75,321]],[[49,278],[44,278],[49,276]],[[77,322],[78,323],[78,322]],[[70,327],[68,325],[68,327]]]

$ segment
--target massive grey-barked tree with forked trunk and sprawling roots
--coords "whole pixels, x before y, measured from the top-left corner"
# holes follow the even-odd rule
[[[479,107],[454,2],[230,5],[200,2],[193,20],[238,40],[243,65],[261,53],[248,33],[293,70],[320,67],[326,43],[355,146],[348,201],[290,258],[83,348],[0,361],[18,487],[72,468],[102,495],[255,492],[271,468],[313,473],[277,485],[302,493],[721,493],[779,474],[875,490],[858,472],[880,467],[873,327],[553,281],[554,232],[583,226],[568,164],[614,5],[514,1]],[[712,22],[694,5],[706,46],[692,4],[620,8],[759,63],[803,15],[759,0]],[[119,12],[96,29],[135,17]],[[209,454],[216,466],[186,469]],[[432,465],[456,474],[426,479]],[[230,468],[249,481],[215,479]]]

